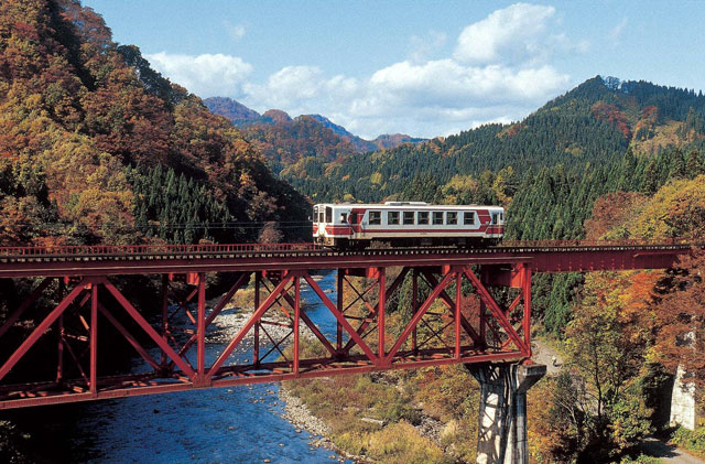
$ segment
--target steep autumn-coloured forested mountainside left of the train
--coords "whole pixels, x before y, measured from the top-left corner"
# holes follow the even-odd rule
[[[77,0],[0,3],[0,157],[2,245],[232,242],[308,209]]]

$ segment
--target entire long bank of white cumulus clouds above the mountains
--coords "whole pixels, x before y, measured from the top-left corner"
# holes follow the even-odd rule
[[[436,31],[412,36],[405,60],[359,77],[288,64],[253,82],[252,66],[236,56],[147,57],[202,97],[232,97],[258,111],[322,114],[365,138],[394,132],[435,137],[521,119],[568,88],[570,76],[553,58],[589,47],[562,32],[553,7],[528,3],[467,25],[452,54],[443,56],[447,39]]]

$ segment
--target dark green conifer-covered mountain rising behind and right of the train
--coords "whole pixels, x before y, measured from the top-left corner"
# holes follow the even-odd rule
[[[572,171],[611,163],[627,149],[654,154],[672,145],[702,148],[704,121],[705,97],[692,90],[597,76],[517,123],[486,125],[343,163],[305,160],[282,175],[316,201],[380,201],[424,173],[443,185],[457,174],[478,177],[507,166],[523,175],[556,164]]]

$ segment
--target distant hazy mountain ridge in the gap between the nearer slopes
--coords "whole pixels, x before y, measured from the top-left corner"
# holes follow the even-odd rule
[[[259,115],[230,98],[206,98],[204,104],[240,128],[278,173],[302,159],[314,159],[321,163],[340,162],[351,154],[423,141],[401,133],[365,140],[321,115],[291,118],[276,109]]]

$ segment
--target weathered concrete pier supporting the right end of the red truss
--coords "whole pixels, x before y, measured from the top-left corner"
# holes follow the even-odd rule
[[[527,391],[546,374],[542,364],[468,364],[480,384],[478,464],[528,464]]]

